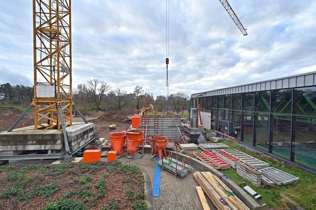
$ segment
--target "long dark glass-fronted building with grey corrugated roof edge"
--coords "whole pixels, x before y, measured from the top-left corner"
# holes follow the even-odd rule
[[[218,136],[316,171],[315,82],[311,72],[197,93],[190,106],[197,107],[198,97],[201,112],[210,116],[202,117],[210,120],[206,129]]]

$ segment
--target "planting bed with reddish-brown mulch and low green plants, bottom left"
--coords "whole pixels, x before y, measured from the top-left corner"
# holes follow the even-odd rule
[[[0,167],[0,185],[1,210],[146,209],[142,172],[118,161],[7,165]]]

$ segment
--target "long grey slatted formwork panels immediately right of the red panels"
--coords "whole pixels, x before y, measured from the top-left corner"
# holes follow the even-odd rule
[[[252,167],[256,169],[264,169],[268,168],[269,164],[266,162],[263,162],[262,160],[259,160],[257,158],[254,158],[246,153],[240,152],[237,149],[223,149],[225,152],[239,158],[239,160],[242,160],[248,164],[250,164]]]

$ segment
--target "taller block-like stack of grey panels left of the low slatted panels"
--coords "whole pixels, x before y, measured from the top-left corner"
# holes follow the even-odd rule
[[[261,186],[262,172],[242,160],[237,162],[237,174],[250,181],[253,185]]]

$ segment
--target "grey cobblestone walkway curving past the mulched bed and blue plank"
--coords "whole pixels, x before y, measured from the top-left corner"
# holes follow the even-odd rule
[[[119,158],[119,161],[125,164],[138,166],[146,172],[151,180],[153,187],[155,174],[155,158],[150,159],[150,154],[140,159]],[[195,172],[195,171],[193,171]],[[160,174],[160,194],[159,197],[152,197],[154,210],[202,210],[198,195],[197,182],[193,178],[193,172],[190,172],[183,178],[175,177],[168,171],[161,171]],[[152,194],[152,193],[151,193]]]

